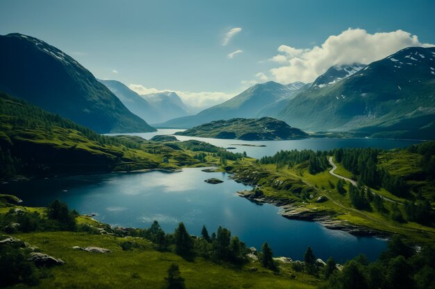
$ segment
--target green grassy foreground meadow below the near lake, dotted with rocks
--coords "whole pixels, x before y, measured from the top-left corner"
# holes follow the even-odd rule
[[[44,208],[19,207],[0,199],[0,213],[19,208],[44,213]],[[91,218],[79,216],[79,223],[104,227]],[[144,238],[120,238],[83,232],[44,231],[11,234],[40,248],[44,254],[63,259],[65,265],[47,270],[48,277],[32,288],[164,288],[166,270],[177,263],[187,288],[315,288],[320,279],[294,272],[289,264],[280,263],[280,273],[262,268],[258,261],[242,267],[217,265],[202,258],[186,261],[172,252],[158,252]],[[123,251],[120,243],[131,240],[139,249]],[[96,246],[110,249],[110,254],[95,254],[72,249],[73,246]],[[250,272],[256,267],[258,271]],[[26,288],[19,285],[13,288]]]

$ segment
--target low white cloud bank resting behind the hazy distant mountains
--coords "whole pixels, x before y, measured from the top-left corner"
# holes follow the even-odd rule
[[[190,105],[192,107],[198,108],[206,108],[211,107],[213,105],[217,105],[219,103],[223,103],[225,100],[229,100],[236,94],[227,94],[222,91],[200,91],[200,92],[190,92],[190,91],[177,91],[172,89],[156,89],[156,88],[147,88],[142,85],[128,85],[129,89],[136,91],[137,94],[156,94],[158,92],[163,91],[174,91],[177,93],[183,103],[186,105]]]

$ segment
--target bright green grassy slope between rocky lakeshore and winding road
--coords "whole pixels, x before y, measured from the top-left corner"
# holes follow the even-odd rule
[[[255,171],[266,171],[269,173],[266,177],[258,179],[257,182],[261,184],[261,190],[267,196],[296,201],[293,204],[304,207],[306,211],[324,211],[333,219],[345,220],[353,225],[386,231],[389,234],[402,234],[416,242],[433,243],[435,240],[435,228],[426,227],[415,222],[395,222],[391,220],[389,216],[385,216],[376,211],[376,209],[373,209],[371,212],[354,209],[348,194],[340,195],[335,188],[331,189],[329,181],[336,185],[338,178],[330,175],[327,171],[311,175],[304,163],[294,166],[293,168],[279,168],[278,170],[275,164],[260,165],[249,162],[245,163],[244,166],[243,171],[247,175],[252,175],[252,172]],[[340,173],[344,173],[343,175],[352,176],[352,173],[348,172],[343,167],[340,167],[339,171]],[[290,188],[290,190],[286,190],[285,187],[277,188],[277,186],[274,186],[277,180],[293,183],[294,186]],[[303,201],[295,197],[291,191],[295,189],[298,184],[302,188],[309,187],[313,189],[310,194],[313,194],[314,198],[312,200]],[[349,186],[350,184],[346,184],[345,188],[348,190]],[[377,193],[385,195],[387,198],[397,199],[401,202],[404,201],[384,189],[377,191]],[[329,200],[327,200],[327,202],[316,203],[315,200],[320,195],[327,196]],[[384,205],[387,209],[391,208],[391,204],[391,202],[384,201]]]

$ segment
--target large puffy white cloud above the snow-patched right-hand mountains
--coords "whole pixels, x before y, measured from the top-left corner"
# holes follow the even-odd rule
[[[333,65],[369,64],[409,46],[433,45],[421,43],[416,35],[404,30],[370,34],[363,29],[349,28],[329,36],[322,45],[312,49],[279,46],[280,54],[270,60],[286,65],[270,69],[270,73],[281,83],[311,82]]]

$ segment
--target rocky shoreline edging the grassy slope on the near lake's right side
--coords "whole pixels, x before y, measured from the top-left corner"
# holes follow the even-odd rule
[[[304,220],[310,222],[319,222],[323,227],[333,230],[346,231],[354,236],[375,236],[378,238],[389,238],[390,235],[384,231],[378,231],[363,226],[356,226],[350,224],[345,220],[334,219],[334,212],[332,211],[313,211],[306,209],[306,207],[294,204],[291,200],[282,200],[271,196],[263,195],[260,190],[251,191],[238,191],[237,194],[258,203],[274,204],[280,208],[279,213],[284,218],[290,220]]]

